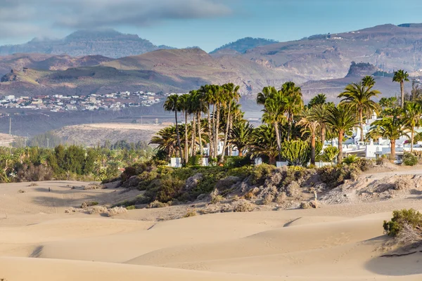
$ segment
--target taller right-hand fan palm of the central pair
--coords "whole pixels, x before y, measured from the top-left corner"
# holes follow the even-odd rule
[[[296,86],[293,81],[289,81],[281,86],[280,91],[283,93],[283,96],[286,97],[285,110],[288,122],[287,141],[290,141],[294,115],[300,113],[303,107],[302,90],[300,87]]]

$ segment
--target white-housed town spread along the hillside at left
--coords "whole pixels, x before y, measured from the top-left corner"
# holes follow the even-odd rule
[[[127,107],[151,106],[162,102],[173,93],[129,92],[96,94],[87,96],[14,96],[1,97],[0,108],[20,108],[23,110],[50,110],[51,112],[84,110],[120,110]]]

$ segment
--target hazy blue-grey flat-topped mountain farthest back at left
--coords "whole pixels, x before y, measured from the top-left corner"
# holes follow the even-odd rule
[[[63,39],[32,39],[21,45],[0,46],[0,55],[13,53],[45,53],[53,55],[103,55],[109,58],[122,58],[172,48],[155,46],[138,35],[122,34],[115,30],[79,30]]]

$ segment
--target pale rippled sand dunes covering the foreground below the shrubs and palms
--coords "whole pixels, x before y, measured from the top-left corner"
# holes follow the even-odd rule
[[[0,280],[422,280],[421,252],[381,257],[383,220],[422,209],[417,196],[160,221],[180,207],[67,214],[136,192],[37,184],[0,185]]]

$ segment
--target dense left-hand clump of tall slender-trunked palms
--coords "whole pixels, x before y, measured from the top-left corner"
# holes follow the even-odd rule
[[[188,159],[197,152],[203,155],[205,143],[209,146],[208,156],[217,158],[219,142],[223,141],[221,154],[221,161],[223,161],[229,146],[231,130],[239,119],[243,119],[243,112],[238,104],[239,88],[232,83],[222,86],[205,85],[181,96],[177,94],[169,96],[164,103],[164,109],[174,112],[176,124],[160,131],[153,137],[151,143],[158,144],[159,149],[164,150],[167,155],[179,156],[186,164]],[[178,112],[184,115],[183,127],[179,126]],[[202,118],[203,114],[207,115],[206,119]],[[188,122],[189,117],[191,117],[191,122]],[[181,142],[181,131],[184,135],[184,143]],[[177,143],[174,143],[174,138],[172,138],[174,133]],[[196,145],[199,146],[199,150]]]

